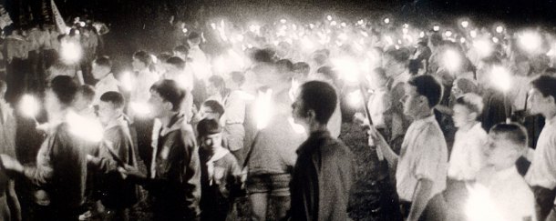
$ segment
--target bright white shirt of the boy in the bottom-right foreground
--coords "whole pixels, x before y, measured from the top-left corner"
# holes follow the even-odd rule
[[[479,185],[487,187],[493,205],[489,213],[500,217],[499,221],[537,220],[535,196],[515,166],[495,171],[492,166],[480,171]]]

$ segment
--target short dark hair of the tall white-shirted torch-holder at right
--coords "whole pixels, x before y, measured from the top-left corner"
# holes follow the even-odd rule
[[[430,108],[438,105],[442,98],[442,85],[431,75],[417,75],[411,77],[407,84],[417,87],[417,93],[427,97]]]

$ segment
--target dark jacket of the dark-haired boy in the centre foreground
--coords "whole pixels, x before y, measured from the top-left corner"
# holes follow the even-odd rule
[[[353,156],[328,131],[315,132],[297,150],[290,189],[291,220],[347,220]]]

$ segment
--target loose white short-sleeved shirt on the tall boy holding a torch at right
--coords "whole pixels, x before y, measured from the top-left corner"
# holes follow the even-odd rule
[[[435,116],[413,122],[407,129],[397,162],[396,188],[400,199],[411,202],[417,181],[433,182],[428,199],[446,189],[448,148]]]

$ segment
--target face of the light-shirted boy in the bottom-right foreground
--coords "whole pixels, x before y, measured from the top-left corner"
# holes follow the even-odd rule
[[[515,144],[506,135],[489,134],[489,148],[486,151],[489,166],[505,166],[515,163],[517,157]],[[511,161],[511,162],[510,162]]]

